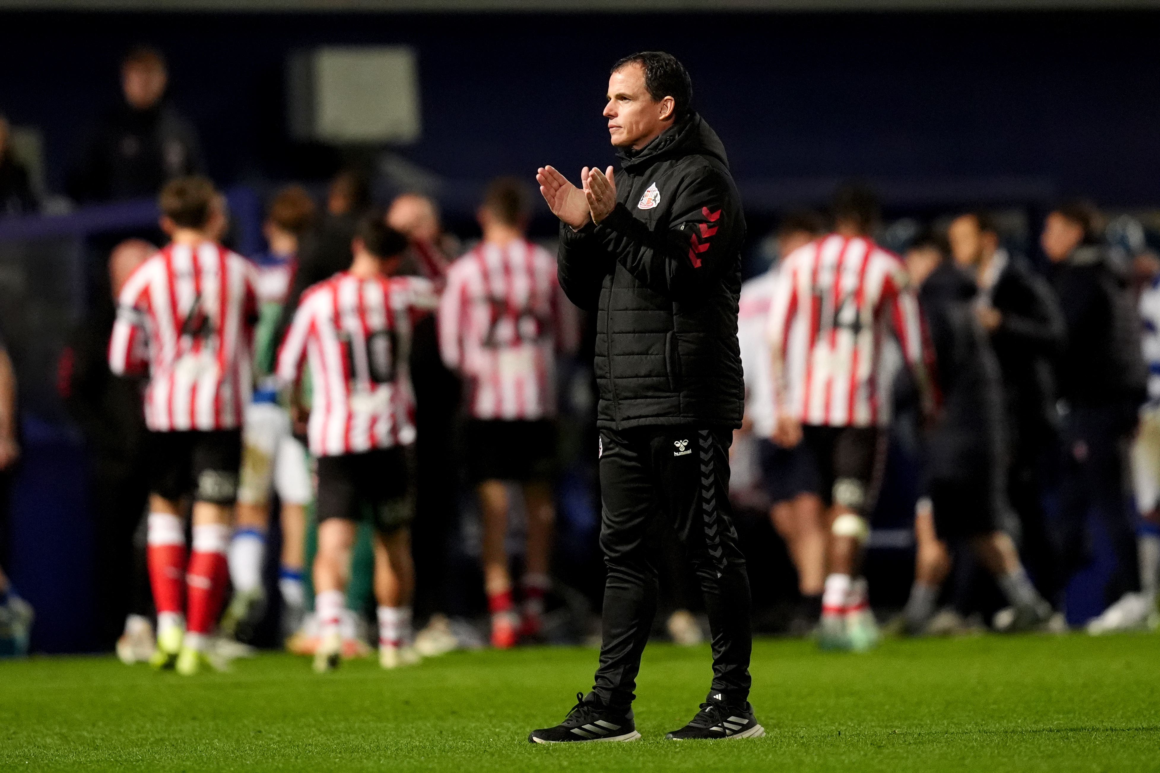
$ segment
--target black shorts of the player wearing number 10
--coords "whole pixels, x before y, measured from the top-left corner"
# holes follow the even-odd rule
[[[404,446],[319,457],[318,522],[369,516],[384,534],[408,526],[415,515],[411,477],[411,454]]]

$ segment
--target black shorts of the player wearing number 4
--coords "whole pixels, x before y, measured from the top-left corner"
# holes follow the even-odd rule
[[[150,432],[150,491],[171,502],[233,504],[241,467],[241,430]]]

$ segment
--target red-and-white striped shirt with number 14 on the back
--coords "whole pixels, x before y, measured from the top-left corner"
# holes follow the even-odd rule
[[[883,334],[923,374],[918,300],[901,260],[869,239],[831,234],[790,253],[778,269],[769,342],[780,404],[803,424],[873,426],[890,421],[879,395]],[[796,330],[803,334],[795,335]]]

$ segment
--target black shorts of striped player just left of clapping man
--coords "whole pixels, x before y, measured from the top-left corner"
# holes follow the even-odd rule
[[[472,420],[465,429],[471,482],[551,481],[556,476],[556,423]]]

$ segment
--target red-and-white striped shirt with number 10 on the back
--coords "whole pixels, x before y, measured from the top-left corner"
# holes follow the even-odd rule
[[[411,331],[437,302],[422,277],[361,279],[348,271],[303,293],[278,352],[277,377],[292,384],[303,358],[310,363],[306,433],[314,455],[414,443]]]

